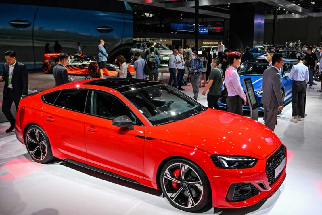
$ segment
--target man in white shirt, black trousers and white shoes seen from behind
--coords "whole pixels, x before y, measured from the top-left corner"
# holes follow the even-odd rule
[[[304,110],[304,97],[306,93],[306,84],[308,83],[308,67],[303,64],[304,56],[298,56],[298,64],[294,65],[289,74],[293,78],[292,83],[292,116],[291,122],[302,121]]]

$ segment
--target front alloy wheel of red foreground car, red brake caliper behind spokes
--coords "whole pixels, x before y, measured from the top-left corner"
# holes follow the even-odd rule
[[[187,164],[175,163],[169,166],[164,173],[163,184],[165,195],[180,207],[192,208],[202,199],[202,181]]]

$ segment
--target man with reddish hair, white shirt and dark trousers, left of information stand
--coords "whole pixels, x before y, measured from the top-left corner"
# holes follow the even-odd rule
[[[227,56],[230,66],[225,72],[225,86],[228,96],[226,99],[228,112],[242,115],[242,106],[246,105],[246,95],[242,89],[241,79],[237,73],[237,67],[241,63],[241,54],[231,52]]]

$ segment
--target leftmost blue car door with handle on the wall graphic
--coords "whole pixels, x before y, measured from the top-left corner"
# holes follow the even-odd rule
[[[0,3],[0,53],[14,50],[27,69],[34,68],[33,25],[38,6]],[[0,71],[5,57],[0,58]]]

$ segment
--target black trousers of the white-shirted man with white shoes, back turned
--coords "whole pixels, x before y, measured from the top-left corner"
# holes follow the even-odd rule
[[[292,84],[292,116],[302,116],[304,97],[306,93],[305,81],[293,81]]]

